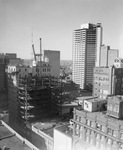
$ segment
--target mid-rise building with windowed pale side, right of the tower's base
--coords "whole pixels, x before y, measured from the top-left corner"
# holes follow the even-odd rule
[[[107,95],[123,94],[123,68],[95,67],[93,96],[106,99]]]

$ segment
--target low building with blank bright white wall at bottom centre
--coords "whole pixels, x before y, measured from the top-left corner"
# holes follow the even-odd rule
[[[72,150],[73,132],[67,118],[51,117],[33,123],[32,131],[44,139],[47,150]]]

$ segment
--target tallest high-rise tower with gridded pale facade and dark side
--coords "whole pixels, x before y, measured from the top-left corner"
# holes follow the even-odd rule
[[[73,81],[84,89],[93,83],[93,67],[100,65],[102,27],[100,23],[83,24],[73,33]]]

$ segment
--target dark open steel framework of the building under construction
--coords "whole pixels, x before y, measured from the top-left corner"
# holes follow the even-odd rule
[[[9,79],[10,122],[26,126],[30,122],[58,114],[62,104],[61,80],[53,76],[17,77],[17,86]]]

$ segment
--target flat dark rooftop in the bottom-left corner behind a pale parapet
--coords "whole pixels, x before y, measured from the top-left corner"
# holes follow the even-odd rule
[[[31,150],[26,144],[22,143],[5,126],[0,125],[0,148],[6,147],[11,150]]]

